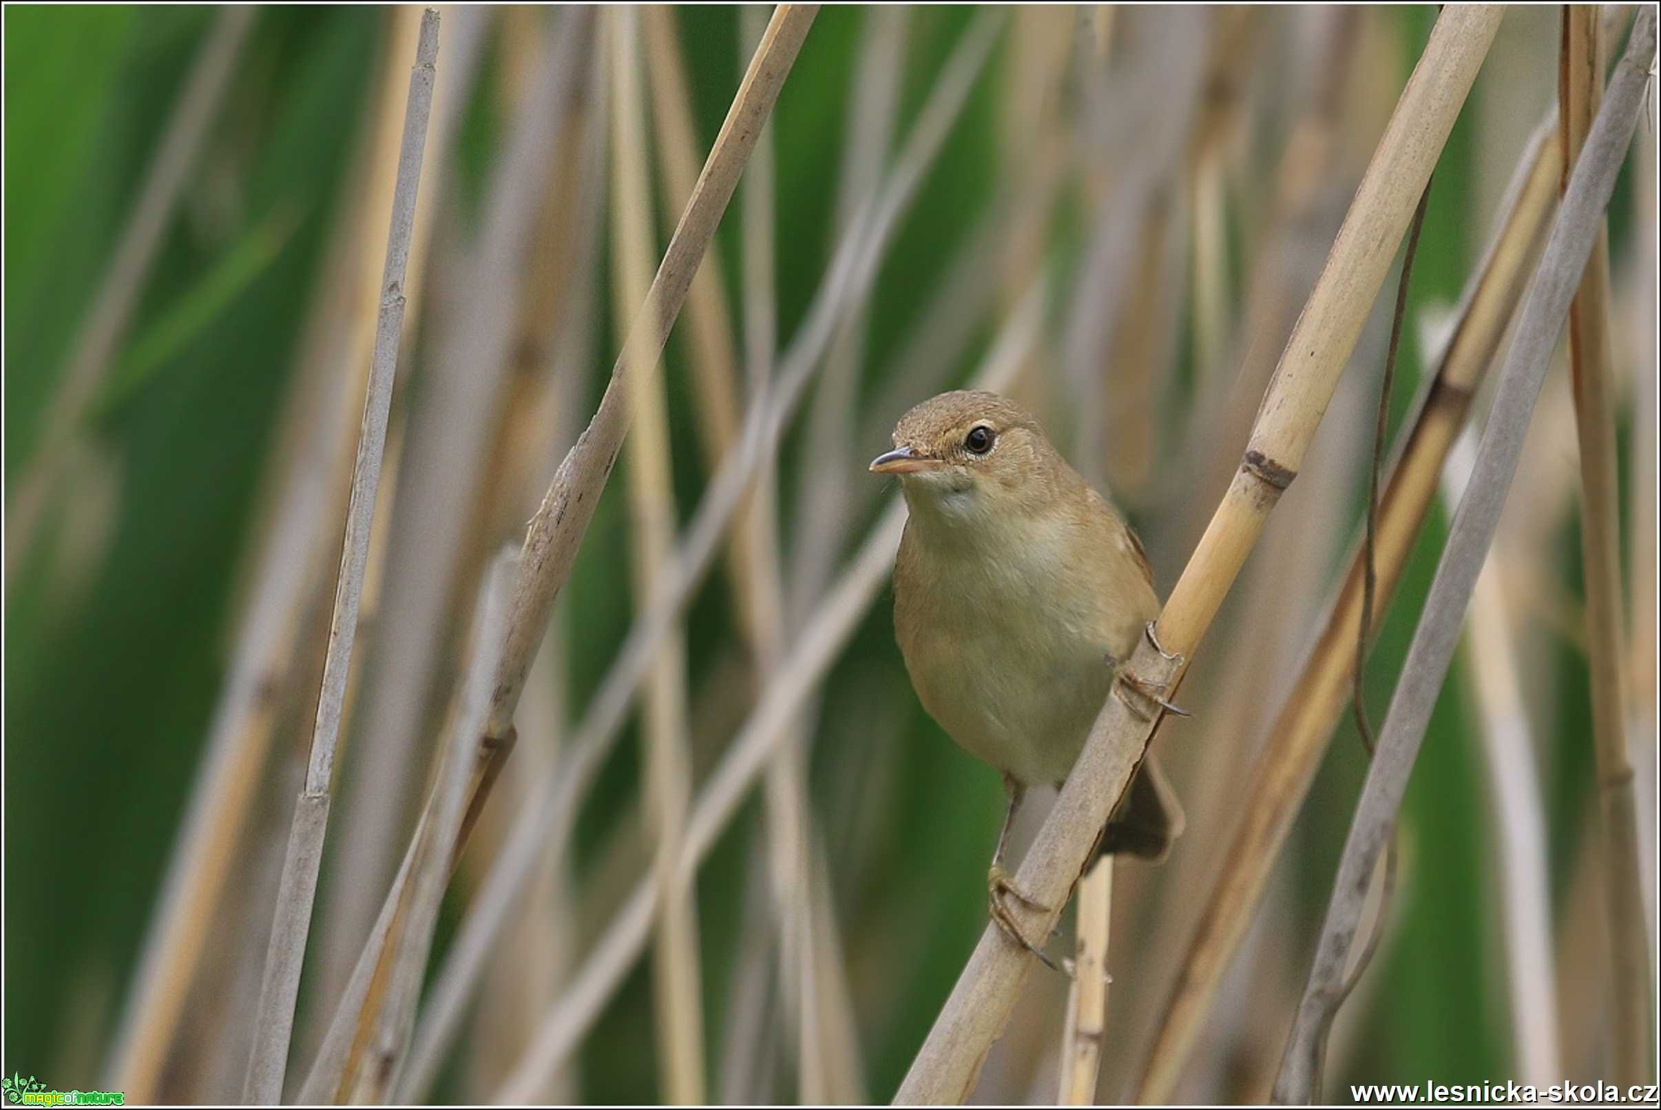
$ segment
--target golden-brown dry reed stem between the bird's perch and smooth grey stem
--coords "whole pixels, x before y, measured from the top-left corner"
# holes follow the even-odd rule
[[[1375,530],[1377,597],[1369,621],[1377,628],[1400,582],[1437,492],[1437,475],[1470,400],[1492,364],[1507,324],[1521,299],[1528,263],[1556,199],[1556,128],[1551,120],[1530,140],[1513,178],[1513,203],[1473,274],[1460,324],[1432,376],[1418,414],[1390,469],[1379,502]],[[1246,936],[1252,911],[1291,832],[1292,821],[1320,764],[1325,743],[1344,713],[1354,681],[1350,646],[1360,625],[1362,567],[1357,550],[1332,602],[1319,638],[1309,648],[1257,758],[1247,803],[1216,887],[1206,902],[1178,980],[1159,1019],[1136,1102],[1168,1102],[1199,1032],[1206,1007]]]

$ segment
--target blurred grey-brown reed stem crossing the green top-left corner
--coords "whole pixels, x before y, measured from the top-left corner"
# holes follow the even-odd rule
[[[23,558],[33,548],[53,487],[83,439],[80,420],[98,395],[126,324],[145,291],[145,279],[161,248],[161,236],[196,165],[219,101],[231,83],[236,56],[254,25],[257,8],[231,7],[219,13],[184,78],[173,113],[161,131],[156,156],[145,171],[138,199],[121,226],[91,307],[81,321],[63,384],[42,417],[35,449],[10,490],[5,518],[5,577],[17,582]],[[141,1077],[146,1078],[146,1077]],[[153,1075],[149,1077],[153,1078]]]

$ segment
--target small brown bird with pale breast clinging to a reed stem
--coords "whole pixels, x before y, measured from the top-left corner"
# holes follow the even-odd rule
[[[1148,558],[1038,420],[998,394],[922,402],[900,417],[894,450],[870,469],[899,475],[910,510],[894,563],[894,631],[912,686],[940,728],[997,768],[1008,789],[987,876],[990,914],[1038,952],[1005,904],[1036,906],[1003,869],[1025,789],[1066,778],[1116,675],[1181,713],[1123,673],[1159,615]],[[1163,859],[1181,828],[1183,811],[1149,754],[1101,851]]]

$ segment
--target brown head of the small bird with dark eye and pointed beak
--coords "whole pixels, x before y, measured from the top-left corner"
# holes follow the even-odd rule
[[[902,415],[894,450],[870,470],[897,475],[914,513],[970,522],[1043,510],[1056,494],[1058,462],[1036,417],[1013,400],[953,390]]]

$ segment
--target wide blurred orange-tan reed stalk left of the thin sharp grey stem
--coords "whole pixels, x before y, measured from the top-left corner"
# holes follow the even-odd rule
[[[420,33],[420,12],[400,12],[402,25],[392,35],[389,50],[405,43],[414,53]],[[448,61],[440,78],[440,91],[430,121],[432,143],[443,148],[450,120],[460,101],[458,88],[467,86],[465,73],[477,60],[478,37],[465,28],[477,25],[463,15],[447,32]],[[407,40],[407,42],[405,42]],[[463,42],[458,42],[463,40]],[[472,42],[472,47],[468,45]],[[208,728],[203,768],[191,791],[189,809],[176,837],[168,876],[156,899],[154,921],[145,939],[140,967],[133,980],[126,1010],[111,1050],[106,1087],[121,1087],[135,1102],[153,1102],[154,1083],[164,1065],[164,1054],[174,1039],[186,995],[198,975],[204,939],[213,924],[214,907],[238,862],[238,844],[252,814],[251,803],[259,786],[261,769],[277,729],[277,718],[294,696],[299,663],[296,638],[301,615],[309,598],[324,597],[332,562],[327,520],[339,518],[347,499],[347,467],[352,462],[357,400],[369,372],[380,291],[382,243],[379,229],[390,219],[397,174],[399,138],[409,95],[404,78],[404,50],[384,61],[379,103],[372,110],[372,135],[367,165],[359,171],[362,184],[359,211],[352,229],[336,248],[341,261],[314,307],[317,332],[301,356],[309,377],[319,379],[311,392],[297,397],[286,420],[299,429],[286,452],[281,492],[274,495],[271,525],[252,573],[246,616],[238,633],[229,675],[224,681],[213,723]],[[434,171],[442,181],[442,163]],[[430,174],[429,174],[430,176]],[[427,249],[432,204],[429,188],[417,199],[415,236],[405,296],[419,309],[417,286]],[[349,243],[349,246],[347,246]],[[405,327],[410,317],[405,317]],[[347,331],[345,351],[337,351],[334,327]],[[339,367],[339,369],[337,369]],[[238,1083],[246,1055],[238,1062]]]

